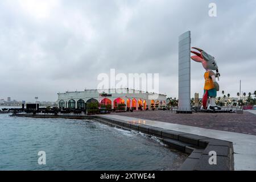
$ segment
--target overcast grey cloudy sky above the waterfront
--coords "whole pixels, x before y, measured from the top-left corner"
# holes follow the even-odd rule
[[[217,17],[208,5],[217,5]],[[0,98],[57,100],[97,88],[97,76],[159,73],[160,93],[177,97],[178,36],[216,57],[220,89],[256,90],[256,1],[0,1]],[[191,61],[191,93],[204,69]],[[221,95],[221,92],[218,93]]]

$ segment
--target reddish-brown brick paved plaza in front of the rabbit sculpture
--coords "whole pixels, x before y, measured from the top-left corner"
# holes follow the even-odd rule
[[[193,113],[175,114],[170,111],[134,111],[133,113],[112,113],[140,119],[149,119],[203,127],[205,129],[231,131],[236,133],[256,135],[256,115],[245,111],[243,114],[236,113]]]

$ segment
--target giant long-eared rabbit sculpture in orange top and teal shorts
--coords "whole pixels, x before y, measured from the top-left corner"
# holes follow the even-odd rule
[[[221,110],[215,103],[217,97],[217,91],[220,90],[216,78],[219,79],[220,73],[218,73],[218,66],[213,56],[209,55],[207,52],[200,48],[192,47],[199,52],[191,51],[196,56],[191,56],[191,59],[202,63],[205,73],[204,73],[204,96],[203,96],[203,109],[207,110]],[[213,71],[216,71],[214,73]]]

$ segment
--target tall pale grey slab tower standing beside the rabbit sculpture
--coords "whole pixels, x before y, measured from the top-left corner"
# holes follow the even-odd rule
[[[191,32],[179,36],[179,110],[191,113]]]

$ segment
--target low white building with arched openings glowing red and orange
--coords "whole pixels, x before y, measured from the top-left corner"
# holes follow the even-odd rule
[[[98,102],[101,105],[112,105],[112,109],[118,104],[126,104],[138,110],[141,106],[145,110],[153,105],[166,106],[166,95],[148,93],[134,89],[108,89],[108,90],[84,90],[82,92],[58,93],[57,105],[59,108],[83,109],[85,103]]]

